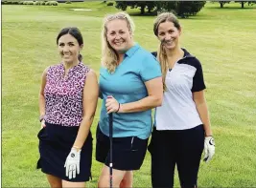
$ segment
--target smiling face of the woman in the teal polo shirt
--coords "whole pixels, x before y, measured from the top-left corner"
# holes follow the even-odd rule
[[[106,25],[106,40],[116,52],[127,52],[133,45],[127,21],[123,19],[109,21]]]

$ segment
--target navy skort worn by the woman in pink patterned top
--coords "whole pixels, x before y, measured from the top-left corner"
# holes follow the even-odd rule
[[[37,169],[45,174],[52,175],[67,181],[84,182],[91,178],[92,163],[92,136],[89,132],[82,148],[80,174],[76,178],[69,179],[65,175],[65,160],[78,135],[80,127],[64,127],[45,122],[46,127],[37,135],[39,139],[40,158],[37,161]]]

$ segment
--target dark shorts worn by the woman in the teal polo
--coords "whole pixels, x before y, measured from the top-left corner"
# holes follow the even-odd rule
[[[96,133],[96,160],[109,166],[109,137],[105,136],[99,125]],[[148,138],[137,136],[113,137],[113,169],[122,171],[139,170],[147,152]]]

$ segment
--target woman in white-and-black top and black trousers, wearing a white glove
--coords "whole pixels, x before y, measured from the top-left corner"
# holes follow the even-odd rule
[[[180,186],[195,188],[203,148],[205,161],[215,153],[201,64],[179,47],[181,27],[173,13],[159,14],[153,31],[161,42],[152,54],[161,64],[165,92],[149,146],[152,187],[173,187],[176,165]]]

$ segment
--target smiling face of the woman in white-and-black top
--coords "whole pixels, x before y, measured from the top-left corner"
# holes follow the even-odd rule
[[[159,24],[157,37],[168,50],[174,50],[178,47],[181,29],[178,30],[175,24],[170,21]]]

